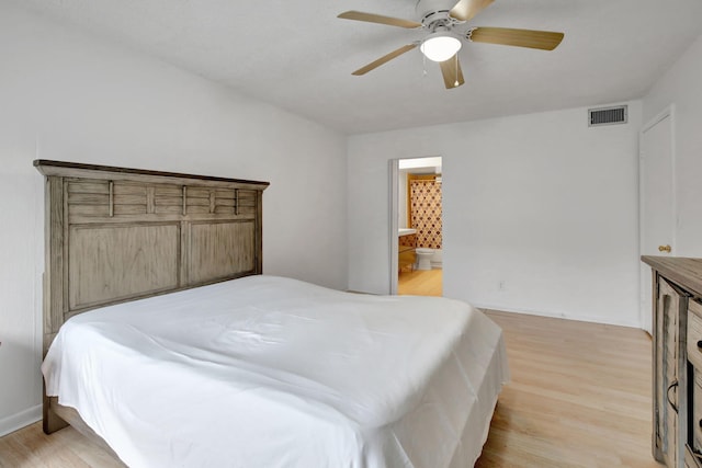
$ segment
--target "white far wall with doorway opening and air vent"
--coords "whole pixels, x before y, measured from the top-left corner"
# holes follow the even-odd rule
[[[627,125],[600,128],[574,109],[351,137],[349,288],[389,290],[387,161],[440,155],[444,296],[638,326],[642,111],[629,105]]]

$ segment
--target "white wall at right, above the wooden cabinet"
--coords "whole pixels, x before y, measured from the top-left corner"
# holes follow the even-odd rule
[[[676,199],[673,254],[702,256],[702,36],[644,99],[644,122],[675,105]]]

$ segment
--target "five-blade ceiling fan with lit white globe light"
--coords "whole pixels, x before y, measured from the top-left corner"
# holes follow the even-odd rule
[[[489,7],[494,0],[419,0],[417,15],[420,21],[383,16],[361,11],[346,11],[338,15],[344,20],[387,24],[409,30],[426,30],[421,41],[404,45],[359,68],[352,75],[361,76],[419,46],[430,60],[438,61],[446,89],[457,88],[465,81],[458,62],[463,41],[553,50],[563,41],[563,33],[551,31],[514,30],[508,27],[468,27],[466,23]],[[449,4],[446,4],[449,3]]]

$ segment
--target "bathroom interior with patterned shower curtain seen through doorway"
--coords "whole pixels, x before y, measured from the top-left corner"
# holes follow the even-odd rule
[[[399,160],[399,295],[442,295],[441,187],[441,157]]]

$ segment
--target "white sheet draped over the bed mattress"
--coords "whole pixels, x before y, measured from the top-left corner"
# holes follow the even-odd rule
[[[106,307],[42,372],[131,467],[472,467],[501,330],[444,298],[249,276]]]

